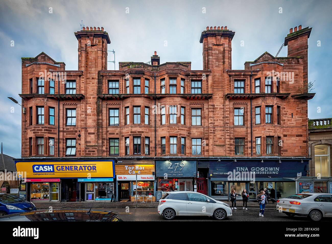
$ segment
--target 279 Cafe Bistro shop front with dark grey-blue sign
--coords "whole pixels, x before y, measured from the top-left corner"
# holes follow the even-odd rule
[[[156,177],[158,191],[197,191],[197,161],[157,160]]]

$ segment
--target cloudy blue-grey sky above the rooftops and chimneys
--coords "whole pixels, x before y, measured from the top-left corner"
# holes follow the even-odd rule
[[[207,26],[227,26],[235,32],[232,69],[244,69],[245,61],[253,61],[265,51],[276,55],[290,28],[312,27],[308,77],[315,81],[316,96],[309,100],[309,118],[332,117],[331,10],[329,0],[1,1],[0,142],[4,153],[21,156],[21,110],[7,98],[21,101],[21,57],[44,51],[65,62],[66,70],[77,70],[74,32],[80,30],[81,21],[109,33],[108,49],[116,51],[116,69],[119,61],[147,62],[157,51],[161,63],[191,61],[192,69],[200,70],[199,39]],[[287,56],[287,47],[279,56]],[[113,61],[113,55],[108,60]],[[114,69],[114,64],[109,62],[108,69]]]

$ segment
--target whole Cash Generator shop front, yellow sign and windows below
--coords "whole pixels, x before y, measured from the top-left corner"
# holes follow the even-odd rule
[[[79,202],[111,200],[114,192],[113,160],[20,160],[26,172],[20,194],[30,201]],[[25,191],[23,191],[25,190]]]

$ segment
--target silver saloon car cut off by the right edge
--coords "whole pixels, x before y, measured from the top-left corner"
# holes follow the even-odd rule
[[[277,210],[288,216],[308,216],[313,221],[332,217],[332,194],[299,193],[277,201]]]

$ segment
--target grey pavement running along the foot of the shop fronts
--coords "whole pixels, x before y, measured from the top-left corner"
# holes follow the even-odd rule
[[[230,206],[232,205],[231,202],[225,202],[222,201],[224,203],[228,203]],[[34,204],[36,205],[37,208],[42,209],[42,208],[49,208],[50,206],[52,206],[53,208],[90,208],[91,206],[93,206],[93,208],[123,208],[126,206],[129,207],[136,207],[136,203],[134,202],[65,202],[65,203],[61,203],[61,202],[34,202]],[[159,203],[156,202],[148,202],[148,203],[137,203],[137,207],[138,208],[157,208],[159,205]],[[247,203],[248,207],[259,207],[259,204],[257,202],[248,202]],[[242,208],[243,203],[242,201],[238,201],[237,202],[237,207],[238,208]],[[267,208],[275,208],[276,204],[274,203],[270,203],[268,206],[266,206]]]

